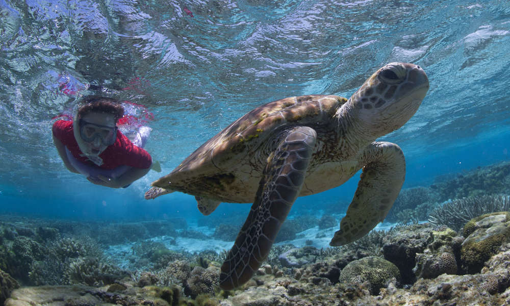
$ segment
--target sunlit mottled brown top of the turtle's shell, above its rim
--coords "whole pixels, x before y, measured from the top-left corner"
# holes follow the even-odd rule
[[[307,95],[284,98],[256,108],[202,144],[170,174],[161,177],[152,186],[200,195],[195,190],[198,188],[190,190],[188,187],[200,181],[204,183],[204,177],[231,175],[230,171],[238,166],[238,161],[255,153],[260,144],[273,137],[283,126],[333,122],[331,118],[346,101],[346,98],[336,95]],[[224,182],[220,181],[211,182],[216,187],[224,188]],[[202,186],[198,190],[216,187]]]

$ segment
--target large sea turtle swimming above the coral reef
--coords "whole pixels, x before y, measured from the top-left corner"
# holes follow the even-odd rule
[[[404,125],[428,88],[420,66],[390,63],[348,100],[305,95],[273,101],[202,144],[153,182],[145,198],[192,194],[204,215],[220,202],[253,202],[221,266],[220,287],[236,288],[266,259],[298,196],[340,186],[363,168],[330,245],[359,239],[384,220],[404,182],[405,160],[398,145],[375,140]]]

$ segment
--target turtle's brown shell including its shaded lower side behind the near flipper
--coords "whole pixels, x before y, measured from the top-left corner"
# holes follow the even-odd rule
[[[331,118],[338,108],[346,101],[346,98],[336,95],[306,95],[260,106],[228,125],[196,149],[170,174],[151,185],[199,196],[211,196],[214,193],[222,201],[236,201],[221,196],[222,191],[235,188],[233,184],[243,181],[240,176],[250,176],[258,186],[267,158],[271,149],[274,149],[268,143],[278,139],[279,131],[296,125],[329,124],[333,122]],[[256,156],[260,158],[254,159]],[[256,191],[251,190],[252,186],[249,189],[251,192]],[[251,200],[252,196],[250,194]]]

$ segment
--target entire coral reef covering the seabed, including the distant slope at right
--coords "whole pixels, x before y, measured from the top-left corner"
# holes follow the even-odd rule
[[[10,306],[510,304],[510,212],[494,213],[510,210],[510,196],[484,195],[479,188],[491,175],[510,182],[506,168],[500,166],[479,169],[431,188],[402,190],[395,214],[389,217],[403,224],[430,214],[436,224],[372,231],[338,248],[275,244],[252,279],[232,291],[218,288],[226,251],[175,252],[166,247],[169,237],[161,240],[165,244],[148,239],[157,235],[210,239],[187,228],[184,219],[179,225],[178,220],[175,224],[168,220],[100,224],[12,222],[0,216],[0,269],[5,271],[0,271],[0,302],[10,293],[12,297],[6,301]],[[430,212],[438,205],[434,202],[447,194],[469,196],[453,198]],[[486,212],[491,214],[483,215]],[[214,237],[233,240],[228,235],[237,235],[244,216],[239,220],[236,226],[236,222],[221,224],[225,216],[216,218],[210,223],[220,224]],[[338,226],[327,214],[321,220],[290,216],[285,224],[279,241],[295,239],[317,225],[322,229]],[[115,249],[109,251],[111,260],[104,257],[104,248],[125,242],[131,243],[111,248]],[[133,271],[119,269],[113,259]],[[14,289],[17,282],[22,286],[58,286]],[[62,286],[67,284],[73,286]]]

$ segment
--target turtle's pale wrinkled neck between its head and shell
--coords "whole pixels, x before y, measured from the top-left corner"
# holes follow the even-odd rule
[[[342,156],[352,158],[377,138],[370,126],[358,118],[356,109],[349,99],[335,114],[340,137],[339,147]]]

